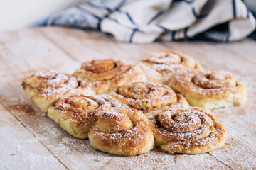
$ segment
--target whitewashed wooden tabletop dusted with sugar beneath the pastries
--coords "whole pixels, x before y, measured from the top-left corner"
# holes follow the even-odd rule
[[[206,69],[223,69],[247,86],[244,106],[216,109],[228,139],[206,154],[165,154],[156,149],[137,157],[98,152],[42,113],[21,82],[38,70],[72,73],[80,63],[114,58],[135,63],[150,52],[180,50]],[[0,35],[0,169],[256,169],[256,42],[155,42],[132,45],[102,33],[68,28],[29,28]]]

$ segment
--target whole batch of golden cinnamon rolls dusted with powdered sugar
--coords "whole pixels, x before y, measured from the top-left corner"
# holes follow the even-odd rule
[[[72,75],[38,72],[23,81],[28,98],[70,135],[102,152],[133,156],[201,154],[224,144],[210,109],[240,106],[245,86],[224,71],[205,71],[181,52],[156,52],[138,64],[82,63]]]

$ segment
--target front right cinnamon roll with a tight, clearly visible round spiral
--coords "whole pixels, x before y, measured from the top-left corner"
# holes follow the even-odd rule
[[[146,118],[156,147],[164,152],[202,154],[217,149],[226,138],[223,124],[202,108],[171,106],[167,111],[149,111]]]

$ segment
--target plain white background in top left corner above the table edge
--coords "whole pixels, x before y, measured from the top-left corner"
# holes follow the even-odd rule
[[[0,33],[19,30],[85,0],[0,0]]]

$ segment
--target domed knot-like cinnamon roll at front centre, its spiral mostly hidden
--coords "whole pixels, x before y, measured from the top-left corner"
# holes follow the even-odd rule
[[[92,147],[110,154],[134,156],[154,148],[154,136],[146,117],[127,106],[106,109],[88,136]]]

